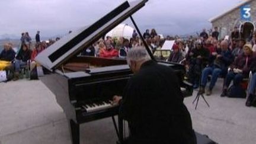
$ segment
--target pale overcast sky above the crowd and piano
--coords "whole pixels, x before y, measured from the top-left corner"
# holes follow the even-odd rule
[[[34,38],[55,37],[90,25],[124,0],[1,0],[0,38],[20,37],[28,31]],[[209,19],[239,4],[241,0],[149,0],[133,15],[143,32],[190,34],[210,28]],[[130,20],[124,23],[131,24]],[[133,26],[133,25],[132,25]]]

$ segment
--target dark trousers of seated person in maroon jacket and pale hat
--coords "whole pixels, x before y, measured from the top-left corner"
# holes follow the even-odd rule
[[[228,88],[232,80],[233,80],[233,85],[239,85],[241,84],[243,79],[244,79],[244,75],[242,75],[242,73],[229,72],[228,75],[226,75],[225,87]]]

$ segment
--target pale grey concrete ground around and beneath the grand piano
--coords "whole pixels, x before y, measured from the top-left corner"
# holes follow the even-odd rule
[[[194,110],[193,97],[184,103],[190,111],[193,127],[218,143],[256,142],[256,108],[245,107],[244,99],[220,98],[217,82],[213,95],[202,99]],[[71,144],[65,114],[55,95],[40,81],[0,83],[0,144],[56,143]],[[81,143],[115,143],[111,119],[81,125]]]

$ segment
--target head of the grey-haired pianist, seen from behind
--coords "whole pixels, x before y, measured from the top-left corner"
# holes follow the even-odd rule
[[[127,53],[126,56],[127,64],[134,73],[139,72],[140,66],[148,60],[151,60],[145,47],[136,47]]]

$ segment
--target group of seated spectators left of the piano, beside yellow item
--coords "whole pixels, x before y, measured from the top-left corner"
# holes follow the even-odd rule
[[[21,41],[20,45],[20,49],[15,52],[12,44],[6,43],[0,53],[0,71],[5,70],[8,72],[8,81],[16,81],[23,77],[24,73],[33,71],[37,65],[34,60],[35,57],[50,46],[46,41],[36,43],[33,49],[30,48],[32,46],[31,43]]]

